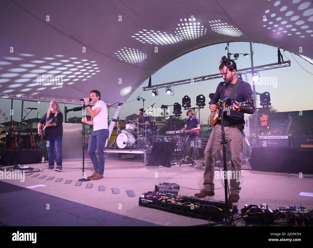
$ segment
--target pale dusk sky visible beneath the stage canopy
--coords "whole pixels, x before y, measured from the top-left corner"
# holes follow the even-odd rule
[[[152,75],[152,85],[219,73],[219,61],[222,56],[227,55],[225,51],[225,46],[226,43],[212,45],[192,51],[186,55],[179,57],[178,59],[167,64],[159,71],[157,71],[154,75]],[[254,66],[277,62],[277,48],[263,44],[254,44],[253,49]],[[249,43],[230,43],[230,52],[232,54],[250,54]],[[308,73],[298,65],[298,63],[288,51],[285,51],[286,57],[283,53],[283,49],[281,49],[281,53],[283,54],[284,60],[290,59],[291,66],[279,69],[272,69],[268,71],[261,71],[261,77],[274,77],[273,79],[275,80],[275,85],[256,85],[256,91],[260,93],[268,91],[270,93],[272,106],[274,106],[279,112],[297,111],[300,109],[313,109],[312,97],[310,96],[310,94],[313,92],[313,75],[310,74],[313,73],[313,66],[309,62],[293,54],[296,61],[298,61],[302,67],[310,72]],[[305,53],[305,51],[303,51],[303,53]],[[231,56],[231,58],[233,59],[233,55]],[[239,59],[236,60],[236,63],[238,69],[250,67],[250,56],[244,57],[243,55],[240,55]],[[251,74],[247,74],[247,77],[247,82],[252,85]],[[244,75],[243,79],[244,81],[246,81]],[[142,108],[142,101],[136,100],[137,96],[139,95],[142,98],[146,99],[145,108],[149,107],[153,103],[156,103],[154,105],[154,108],[160,108],[162,104],[172,105],[175,102],[181,104],[182,98],[185,95],[188,95],[191,98],[192,107],[197,107],[196,97],[199,94],[203,94],[206,97],[206,106],[204,109],[201,109],[200,121],[203,122],[203,124],[207,124],[208,116],[210,114],[208,106],[208,103],[210,101],[209,94],[215,92],[219,82],[221,82],[221,79],[213,79],[204,82],[195,82],[194,84],[184,84],[181,86],[176,86],[173,89],[174,96],[167,95],[165,93],[165,88],[162,88],[158,90],[158,96],[152,97],[152,91],[142,92],[142,87],[148,85],[148,80],[146,80],[146,82],[144,82],[138,89],[136,89],[136,91],[128,98],[126,103],[123,104],[119,117],[120,119],[125,119],[126,116],[139,112],[139,108]],[[101,98],[102,100],[105,100],[105,94],[102,94]],[[21,120],[21,102],[22,101],[20,100],[13,101],[13,119],[15,119],[16,121]],[[259,96],[256,103],[257,107],[260,107]],[[66,106],[68,106],[68,108],[73,108],[79,105],[66,104]],[[49,107],[49,103],[24,101],[24,108],[29,107],[38,108],[38,112],[40,112],[41,116],[43,116]],[[61,103],[60,107],[63,111],[64,104]],[[0,108],[9,115],[11,109],[11,100],[0,99]],[[110,116],[113,115],[114,109],[115,108],[110,108]],[[173,107],[170,106],[167,112],[172,114],[172,111]],[[182,117],[186,118],[185,111],[182,110],[182,112]],[[68,118],[80,116],[80,114],[81,112],[70,112],[68,113]],[[29,114],[29,117],[37,117],[37,111],[35,112],[35,110],[33,110]]]

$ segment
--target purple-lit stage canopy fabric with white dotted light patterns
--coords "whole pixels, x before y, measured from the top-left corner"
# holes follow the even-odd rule
[[[224,42],[313,63],[311,0],[2,0],[0,9],[4,98],[74,103],[99,89],[106,103],[124,103],[162,66]]]

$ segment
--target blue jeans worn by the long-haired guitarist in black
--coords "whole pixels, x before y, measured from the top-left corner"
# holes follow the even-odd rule
[[[62,137],[62,135],[47,137],[47,141],[49,141],[49,146],[47,146],[49,167],[54,166],[54,147],[57,167],[62,167]]]

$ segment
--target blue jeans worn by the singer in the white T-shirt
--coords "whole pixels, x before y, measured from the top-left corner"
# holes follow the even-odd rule
[[[88,155],[94,165],[95,172],[101,175],[104,173],[104,147],[108,137],[109,129],[93,131],[88,144]],[[95,153],[96,150],[99,161]]]

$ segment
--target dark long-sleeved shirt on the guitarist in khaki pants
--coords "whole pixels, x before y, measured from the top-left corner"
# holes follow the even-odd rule
[[[239,80],[239,79],[238,79]],[[222,92],[223,92],[223,83],[221,82],[218,84],[218,87],[216,88],[216,92],[214,94],[214,97],[210,101],[210,104],[215,104],[221,99]],[[232,89],[235,84],[228,84],[225,87],[225,93],[224,93],[224,103],[226,103],[226,100],[228,99],[228,96],[230,95],[230,92],[232,92]],[[233,96],[231,104],[235,103],[237,101],[238,103],[242,103],[244,101],[252,100],[253,99],[253,93],[251,89],[251,85],[247,82],[241,81],[238,85],[238,88]],[[233,109],[230,110],[229,115],[227,115],[227,112],[224,112],[224,126],[232,126],[235,124],[243,123],[244,122],[244,113],[247,114],[253,114],[255,111],[255,107],[246,107],[242,111],[235,112]]]

